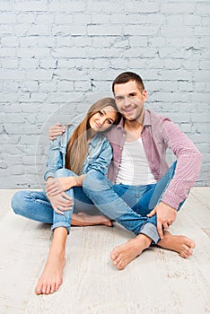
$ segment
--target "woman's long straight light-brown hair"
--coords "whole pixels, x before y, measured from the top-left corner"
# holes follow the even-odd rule
[[[118,113],[118,108],[113,98],[107,97],[96,101],[88,110],[83,121],[74,129],[73,135],[68,141],[66,147],[66,169],[74,171],[77,175],[81,174],[83,163],[88,153],[88,130],[91,127],[89,120],[95,113],[107,106],[113,107]],[[118,113],[114,124],[118,124],[119,119],[120,114]]]

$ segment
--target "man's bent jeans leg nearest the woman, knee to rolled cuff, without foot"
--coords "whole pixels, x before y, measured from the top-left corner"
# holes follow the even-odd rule
[[[83,191],[92,200],[92,203],[99,208],[101,213],[114,219],[136,235],[143,233],[153,240],[154,243],[157,243],[159,235],[155,225],[155,217],[150,219],[149,222],[149,218],[137,214],[122,199],[121,192],[118,192],[116,188],[114,189],[114,185],[100,171],[91,170],[87,174],[83,180]]]

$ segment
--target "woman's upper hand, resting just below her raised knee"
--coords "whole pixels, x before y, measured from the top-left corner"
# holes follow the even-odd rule
[[[74,177],[50,179],[46,183],[46,193],[50,196],[57,196],[57,194],[65,192],[66,190],[74,186]]]

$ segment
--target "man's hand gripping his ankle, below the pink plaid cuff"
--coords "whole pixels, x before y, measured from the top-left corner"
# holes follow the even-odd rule
[[[163,229],[169,229],[172,222],[176,219],[177,211],[175,208],[172,208],[170,205],[165,203],[159,203],[156,205],[153,210],[147,214],[147,217],[152,217],[154,214],[157,216],[157,231],[160,235],[160,238],[163,238]]]

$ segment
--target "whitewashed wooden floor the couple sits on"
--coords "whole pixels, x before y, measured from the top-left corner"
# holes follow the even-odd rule
[[[115,269],[109,252],[133,235],[115,224],[72,228],[67,240],[64,283],[52,295],[34,287],[48,255],[48,225],[13,214],[14,190],[0,190],[1,314],[203,314],[210,313],[210,188],[193,188],[171,227],[197,247],[188,259],[148,249]]]

